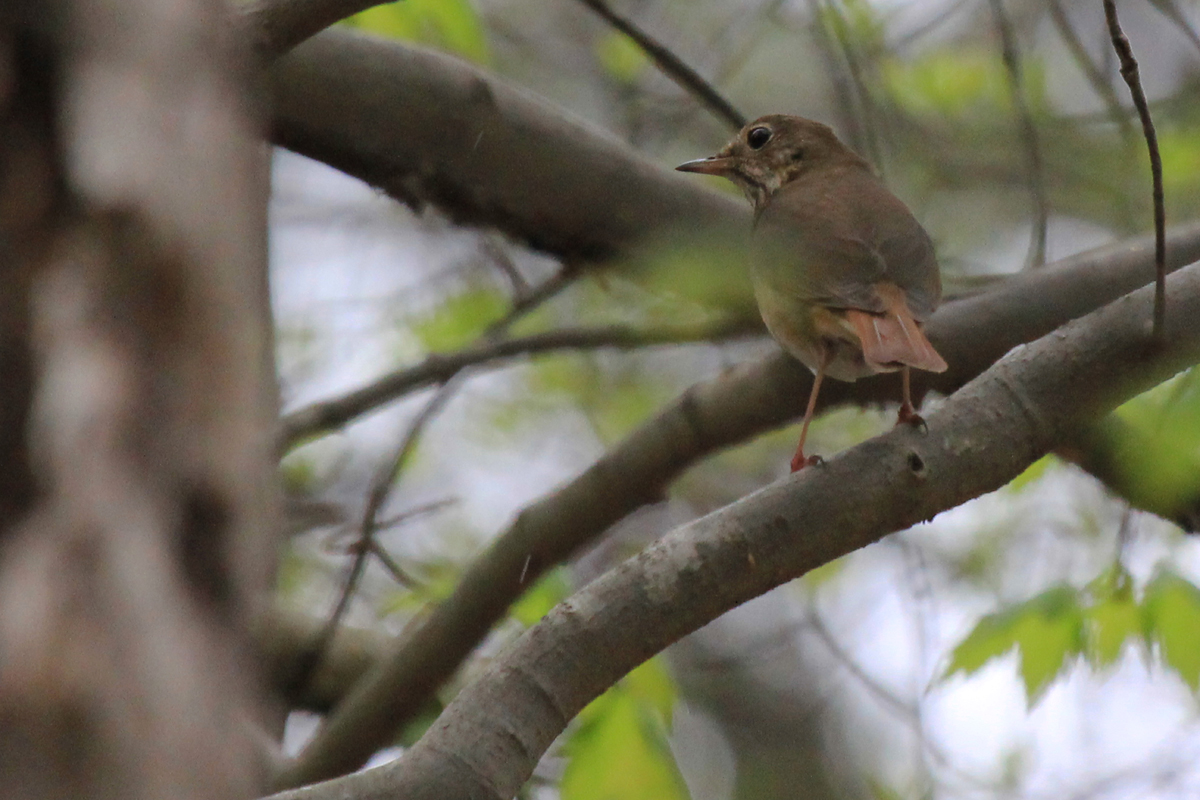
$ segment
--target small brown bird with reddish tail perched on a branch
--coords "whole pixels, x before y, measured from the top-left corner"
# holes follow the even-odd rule
[[[901,373],[896,425],[924,427],[911,369],[944,372],[923,325],[942,296],[934,243],[908,207],[833,130],[772,114],[716,155],[676,167],[726,178],[754,206],[750,276],[767,330],[814,373],[792,471],[821,463],[804,443],[821,383]]]

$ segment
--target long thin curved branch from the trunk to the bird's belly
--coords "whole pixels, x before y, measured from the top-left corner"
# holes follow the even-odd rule
[[[499,342],[488,341],[485,335],[478,344],[457,353],[431,355],[414,367],[397,369],[342,397],[313,403],[287,414],[280,426],[280,449],[287,451],[308,437],[346,425],[410,391],[446,381],[466,367],[497,366],[515,356],[553,350],[632,350],[659,344],[716,341],[757,330],[757,320],[726,319],[704,325],[662,326],[641,331],[619,325],[566,329]]]

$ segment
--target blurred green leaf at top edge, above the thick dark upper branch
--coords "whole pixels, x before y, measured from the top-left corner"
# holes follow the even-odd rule
[[[347,20],[382,36],[450,50],[488,64],[487,36],[470,0],[403,0],[367,8]]]

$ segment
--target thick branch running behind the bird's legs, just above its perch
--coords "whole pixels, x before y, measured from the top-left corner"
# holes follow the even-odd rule
[[[914,375],[917,396],[930,389],[949,395],[1016,344],[1135,288],[1150,251],[1146,239],[1122,242],[947,303],[926,330],[950,369]],[[1170,255],[1172,266],[1200,258],[1200,225],[1172,231]],[[467,570],[450,599],[355,687],[277,786],[300,786],[361,765],[540,575],[622,517],[659,500],[700,458],[798,415],[811,380],[811,373],[782,353],[727,371],[688,390],[583,475],[526,507]],[[821,408],[889,402],[896,393],[889,375],[832,381]]]

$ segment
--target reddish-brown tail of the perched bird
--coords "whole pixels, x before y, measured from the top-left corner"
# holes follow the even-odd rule
[[[857,308],[846,311],[846,319],[854,327],[863,344],[863,356],[880,372],[902,366],[926,372],[946,372],[946,360],[925,338],[920,323],[908,309],[904,289],[895,284],[876,285],[884,311],[875,314]]]

